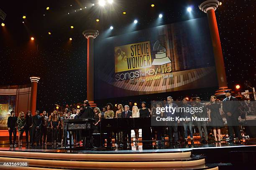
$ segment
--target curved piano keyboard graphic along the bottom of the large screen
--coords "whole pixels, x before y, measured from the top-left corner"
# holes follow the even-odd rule
[[[113,80],[113,77],[115,77],[115,70],[111,69],[111,70],[108,70],[108,72],[106,72],[108,76],[105,76],[104,81],[110,83],[111,85],[114,85],[115,87],[123,88],[126,90],[154,92],[154,91],[172,89],[175,87],[180,87],[182,85],[187,85],[191,82],[194,82],[195,80],[200,79],[201,77],[206,76],[207,74],[209,74],[214,70],[215,70],[215,67],[203,67],[203,68],[197,68],[197,69],[185,70],[185,71],[179,71],[179,72],[170,72],[163,75],[172,74],[173,77],[132,83],[131,80],[110,82],[110,80]],[[140,77],[140,78],[144,79],[146,77]]]

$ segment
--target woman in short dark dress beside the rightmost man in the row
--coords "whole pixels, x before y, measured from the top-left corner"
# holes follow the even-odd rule
[[[223,119],[221,117],[221,108],[220,104],[217,103],[217,98],[215,96],[211,96],[209,108],[209,122],[213,129],[215,143],[220,143],[220,128],[223,127]],[[216,137],[216,130],[218,130],[218,140]]]

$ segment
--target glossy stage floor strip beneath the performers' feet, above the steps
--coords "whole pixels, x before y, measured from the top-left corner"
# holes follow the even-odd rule
[[[0,145],[0,150],[13,150],[13,151],[28,151],[28,152],[46,152],[46,153],[133,153],[133,152],[141,152],[141,153],[154,153],[154,152],[175,152],[175,151],[187,151],[193,149],[214,149],[214,148],[241,148],[248,146],[256,146],[256,145],[246,145],[246,142],[243,144],[237,143],[211,143],[211,144],[202,144],[199,141],[195,141],[194,144],[189,143],[181,143],[179,145],[169,144],[169,142],[165,142],[162,145],[156,145],[155,142],[152,142],[152,145],[144,145],[143,142],[139,142],[136,146],[134,143],[131,143],[131,147],[111,147],[111,148],[94,148],[91,150],[84,150],[82,147],[78,148],[66,148],[61,145],[59,147],[54,147],[50,143],[44,146],[29,146],[26,147],[26,143],[23,144],[22,147],[10,148],[9,145]]]

